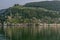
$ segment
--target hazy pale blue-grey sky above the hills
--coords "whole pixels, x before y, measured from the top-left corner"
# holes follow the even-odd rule
[[[0,9],[5,9],[14,4],[25,4],[28,2],[47,1],[47,0],[0,0]]]

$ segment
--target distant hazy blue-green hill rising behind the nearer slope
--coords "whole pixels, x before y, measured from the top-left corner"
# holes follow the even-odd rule
[[[60,11],[60,1],[42,1],[27,3],[26,7],[41,7],[49,10]]]

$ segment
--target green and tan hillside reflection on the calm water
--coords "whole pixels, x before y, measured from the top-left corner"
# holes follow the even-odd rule
[[[10,40],[60,40],[60,24],[11,24],[4,31]]]

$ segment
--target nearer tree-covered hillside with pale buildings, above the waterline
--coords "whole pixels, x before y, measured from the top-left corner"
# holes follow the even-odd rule
[[[60,12],[47,10],[44,8],[13,6],[0,13],[0,19],[7,17],[5,22],[10,23],[60,23]],[[5,17],[4,17],[5,16]]]

